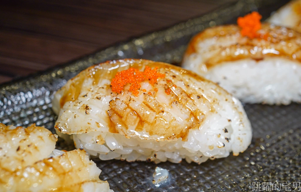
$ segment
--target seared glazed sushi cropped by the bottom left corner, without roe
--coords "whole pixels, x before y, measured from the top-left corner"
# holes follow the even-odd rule
[[[55,148],[57,135],[35,125],[0,124],[0,191],[105,191],[101,170],[84,150]],[[49,157],[50,156],[50,157]]]

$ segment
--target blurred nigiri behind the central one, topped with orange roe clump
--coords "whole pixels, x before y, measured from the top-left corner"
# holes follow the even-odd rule
[[[301,102],[301,34],[260,23],[252,13],[238,25],[208,28],[188,45],[182,67],[194,70],[247,103]]]

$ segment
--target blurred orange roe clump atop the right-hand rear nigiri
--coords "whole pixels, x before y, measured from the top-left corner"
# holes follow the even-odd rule
[[[258,34],[257,31],[261,29],[261,18],[262,16],[256,11],[247,14],[244,17],[238,17],[237,24],[241,27],[240,34],[242,36],[250,37],[251,39],[259,37],[260,34]]]

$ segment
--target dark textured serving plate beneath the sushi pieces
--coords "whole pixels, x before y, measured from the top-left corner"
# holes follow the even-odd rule
[[[28,126],[36,123],[54,131],[51,111],[53,93],[82,69],[118,58],[145,58],[176,64],[192,35],[204,28],[235,22],[237,16],[259,10],[263,18],[287,1],[247,0],[229,4],[199,18],[177,24],[127,43],[107,48],[56,69],[0,86],[0,122]],[[146,162],[95,160],[114,191],[262,191],[262,182],[272,189],[290,190],[301,182],[301,105],[246,105],[253,126],[251,146],[237,157],[194,163],[160,163],[170,170],[171,181],[154,187],[151,183],[156,165]],[[59,148],[64,148],[61,143]],[[289,185],[286,185],[289,184]],[[257,188],[256,188],[257,187]],[[274,187],[274,188],[273,188]],[[269,190],[267,190],[269,191]],[[300,190],[299,190],[300,191]]]

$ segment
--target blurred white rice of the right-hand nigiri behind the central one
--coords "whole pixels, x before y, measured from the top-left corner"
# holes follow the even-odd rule
[[[201,58],[191,55],[185,63],[201,63]],[[200,67],[198,73],[242,102],[270,105],[301,102],[301,64],[298,61],[281,57],[265,57],[261,61],[242,59],[223,62],[207,72]]]

